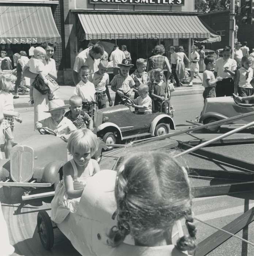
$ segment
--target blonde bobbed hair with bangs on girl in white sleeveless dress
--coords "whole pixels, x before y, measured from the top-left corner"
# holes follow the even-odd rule
[[[67,143],[67,148],[71,154],[74,147],[91,150],[91,156],[93,156],[98,149],[98,139],[93,132],[86,128],[77,129],[71,133]]]

